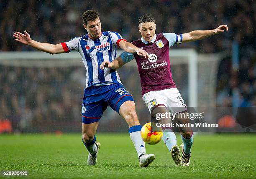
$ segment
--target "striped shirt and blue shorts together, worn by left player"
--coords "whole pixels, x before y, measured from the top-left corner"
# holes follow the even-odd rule
[[[86,84],[82,103],[82,122],[91,124],[100,121],[103,111],[110,106],[119,113],[125,101],[134,101],[122,85],[118,73],[111,69],[100,69],[103,61],[112,62],[116,48],[125,40],[116,32],[102,32],[100,38],[92,39],[83,35],[61,43],[65,53],[77,50],[86,68]],[[125,40],[126,41],[126,40]]]

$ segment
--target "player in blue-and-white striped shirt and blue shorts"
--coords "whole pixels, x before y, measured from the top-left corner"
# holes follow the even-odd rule
[[[15,32],[13,36],[16,41],[47,53],[69,53],[70,50],[80,53],[86,68],[86,86],[82,102],[82,141],[89,151],[88,165],[96,164],[100,143],[96,143],[95,133],[103,111],[110,106],[128,123],[131,140],[138,154],[139,166],[147,167],[155,156],[146,154],[133,97],[122,85],[118,73],[110,68],[102,70],[100,64],[115,59],[117,46],[145,59],[148,58],[148,53],[128,43],[116,32],[102,32],[100,15],[95,10],[84,12],[82,20],[88,34],[65,43],[40,43],[32,40],[26,30],[25,34]]]

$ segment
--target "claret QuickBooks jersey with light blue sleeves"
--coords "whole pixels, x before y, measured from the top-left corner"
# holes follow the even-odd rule
[[[125,63],[128,63],[133,58],[136,59],[143,95],[150,91],[176,88],[172,79],[169,48],[179,43],[182,43],[182,34],[159,33],[154,35],[151,42],[147,42],[143,38],[132,42],[136,47],[148,52],[148,59],[126,52],[120,55],[120,58]]]

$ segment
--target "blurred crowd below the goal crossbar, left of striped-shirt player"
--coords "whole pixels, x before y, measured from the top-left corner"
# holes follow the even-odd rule
[[[73,119],[81,118],[83,87],[74,79],[74,68],[0,66],[0,70],[0,119],[10,119],[14,130],[65,130],[78,126],[69,125],[74,121],[80,127],[80,121]]]

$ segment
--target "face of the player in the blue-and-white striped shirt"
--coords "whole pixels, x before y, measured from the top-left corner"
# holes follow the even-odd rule
[[[92,38],[99,38],[101,35],[101,23],[99,18],[93,21],[87,21],[87,25],[84,24],[84,28]]]

